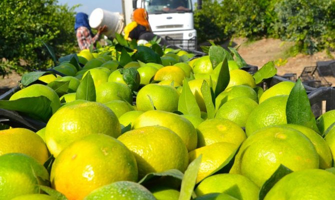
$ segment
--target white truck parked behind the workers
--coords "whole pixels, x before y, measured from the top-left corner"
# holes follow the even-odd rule
[[[201,7],[201,0],[198,0]],[[196,50],[196,30],[193,26],[191,0],[122,0],[124,23],[131,22],[135,8],[145,8],[153,33],[160,35],[171,45]]]

